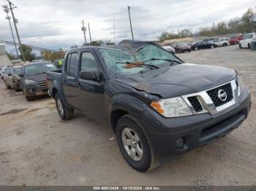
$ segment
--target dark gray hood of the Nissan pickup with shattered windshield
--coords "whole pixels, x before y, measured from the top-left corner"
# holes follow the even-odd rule
[[[162,98],[207,90],[236,77],[236,71],[219,66],[192,63],[153,69],[143,74],[121,75],[115,80]]]

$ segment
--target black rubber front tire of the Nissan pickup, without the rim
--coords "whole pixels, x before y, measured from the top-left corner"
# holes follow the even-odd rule
[[[130,157],[125,150],[122,141],[122,133],[124,128],[130,128],[138,135],[141,142],[141,147],[143,149],[143,156],[140,160],[133,160],[132,157]],[[154,149],[151,147],[150,141],[145,131],[143,130],[143,127],[140,125],[138,120],[136,120],[129,114],[122,116],[118,120],[116,125],[116,139],[118,147],[124,159],[135,170],[140,172],[151,171],[154,168],[157,168],[157,166],[160,164],[159,157],[156,155]]]

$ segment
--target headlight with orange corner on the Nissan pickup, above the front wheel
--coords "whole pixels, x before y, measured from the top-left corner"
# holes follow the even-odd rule
[[[181,97],[162,99],[161,101],[152,101],[150,104],[159,114],[164,117],[181,117],[192,115],[189,106]]]

